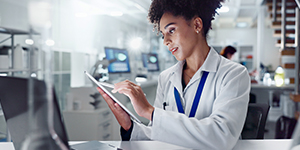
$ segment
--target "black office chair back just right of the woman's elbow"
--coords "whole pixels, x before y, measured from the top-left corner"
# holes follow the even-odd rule
[[[242,139],[264,139],[265,125],[270,106],[265,103],[250,103]]]

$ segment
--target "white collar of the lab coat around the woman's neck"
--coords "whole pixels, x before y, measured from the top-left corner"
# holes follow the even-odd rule
[[[195,75],[193,76],[193,78],[191,79],[187,87],[192,83],[194,83],[196,80],[200,79],[203,71],[207,71],[209,73],[216,72],[219,61],[220,61],[219,54],[216,52],[216,50],[213,47],[210,47],[210,50],[208,52],[208,55],[203,65],[195,73]],[[182,93],[181,80],[182,80],[182,69],[184,64],[185,64],[185,60],[179,61],[177,64],[175,64],[175,66],[171,70],[172,75],[170,77],[170,81],[172,82],[174,87],[176,87],[179,93]]]

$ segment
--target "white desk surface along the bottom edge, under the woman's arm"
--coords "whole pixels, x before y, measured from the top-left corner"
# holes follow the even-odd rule
[[[282,140],[239,140],[233,150],[288,150],[290,139]],[[101,141],[103,143],[109,143],[125,150],[176,150],[184,149],[180,146],[171,145],[158,141]],[[76,144],[80,142],[70,142],[70,144]],[[0,150],[14,150],[11,142],[0,142]]]

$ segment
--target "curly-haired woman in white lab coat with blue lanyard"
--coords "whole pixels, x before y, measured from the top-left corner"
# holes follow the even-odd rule
[[[113,92],[127,95],[137,114],[151,121],[148,126],[131,121],[98,89],[122,127],[123,140],[157,140],[194,149],[234,147],[246,117],[250,78],[245,67],[207,44],[219,7],[220,0],[152,1],[149,20],[178,63],[160,74],[154,106],[140,86],[128,80],[115,84]]]

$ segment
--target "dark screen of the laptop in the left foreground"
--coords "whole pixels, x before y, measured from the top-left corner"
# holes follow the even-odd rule
[[[18,77],[0,77],[0,102],[4,117],[9,128],[15,149],[21,149],[24,140],[29,135],[29,106],[28,84],[29,79]],[[39,129],[48,130],[45,126],[45,110],[48,110],[47,85],[42,80],[33,79],[34,117]],[[68,136],[64,125],[63,116],[59,109],[58,99],[54,88],[53,98],[53,123],[54,131],[62,142],[68,145]]]

